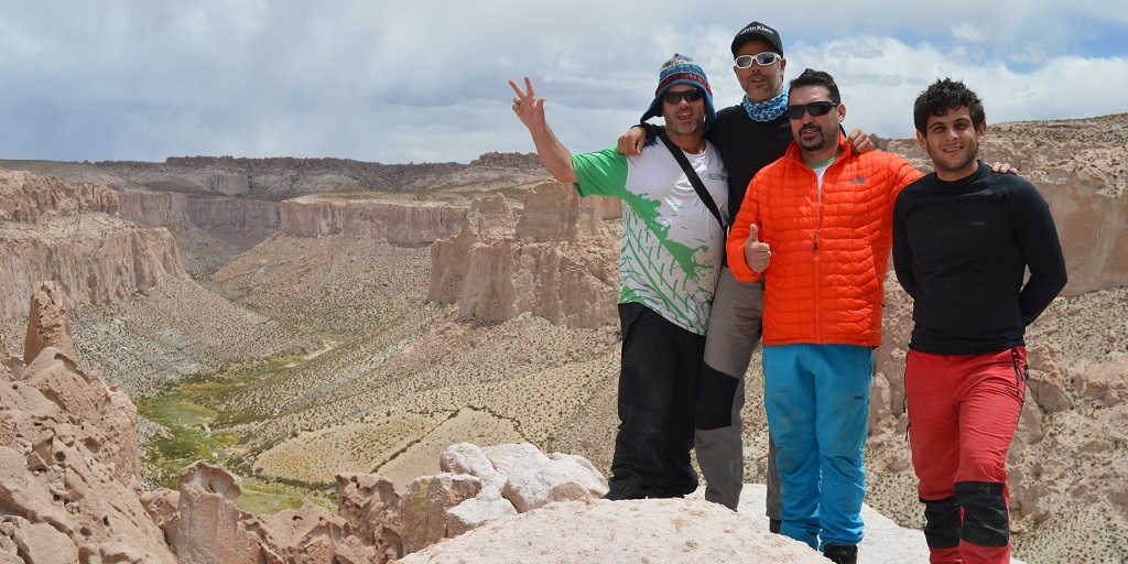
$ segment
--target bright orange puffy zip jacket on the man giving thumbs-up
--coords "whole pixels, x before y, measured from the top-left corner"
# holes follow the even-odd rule
[[[768,244],[764,344],[881,344],[893,200],[923,174],[884,151],[855,153],[839,133],[838,157],[818,178],[794,142],[764,167],[740,205],[726,250],[733,276],[759,279],[744,261],[749,224]]]

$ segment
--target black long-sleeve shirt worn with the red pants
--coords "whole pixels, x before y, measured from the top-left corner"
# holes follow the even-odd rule
[[[1067,280],[1046,200],[1030,182],[982,162],[961,180],[933,173],[901,191],[893,268],[914,301],[909,347],[935,354],[1024,345],[1025,326]]]

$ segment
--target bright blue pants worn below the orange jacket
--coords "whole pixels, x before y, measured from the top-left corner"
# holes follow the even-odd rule
[[[857,545],[873,349],[765,346],[764,377],[764,403],[783,483],[781,532],[816,549],[820,540]]]

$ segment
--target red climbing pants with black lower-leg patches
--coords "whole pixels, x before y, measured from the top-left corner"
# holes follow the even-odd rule
[[[933,564],[1011,562],[1006,451],[1025,380],[1021,346],[986,354],[909,351],[909,444]]]

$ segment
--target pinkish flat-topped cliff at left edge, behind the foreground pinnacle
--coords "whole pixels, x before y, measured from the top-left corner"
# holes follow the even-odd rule
[[[0,318],[26,316],[20,296],[42,280],[55,281],[76,305],[122,299],[165,276],[187,276],[168,230],[112,215],[120,202],[105,186],[0,169]]]

